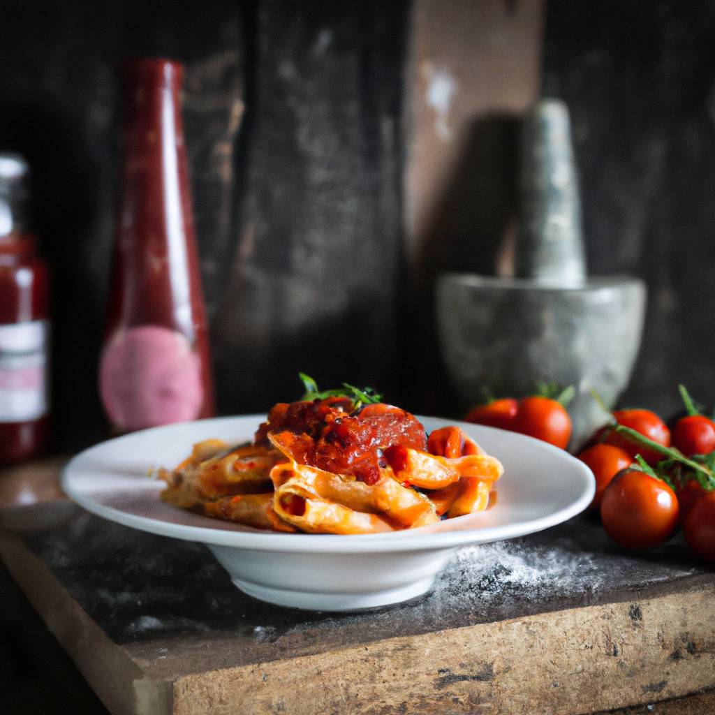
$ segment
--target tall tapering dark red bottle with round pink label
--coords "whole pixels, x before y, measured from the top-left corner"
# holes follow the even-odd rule
[[[122,66],[122,197],[99,370],[119,432],[214,413],[182,76],[167,59]]]

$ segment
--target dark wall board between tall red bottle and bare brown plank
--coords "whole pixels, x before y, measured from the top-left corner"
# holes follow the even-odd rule
[[[222,410],[297,398],[298,370],[395,395],[406,7],[256,4],[245,194],[214,326]]]

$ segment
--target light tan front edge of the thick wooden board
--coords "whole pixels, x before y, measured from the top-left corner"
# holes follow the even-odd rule
[[[678,696],[715,681],[711,596],[712,582],[636,603],[185,676],[174,682],[174,713],[569,715]],[[688,648],[701,657],[684,659]]]

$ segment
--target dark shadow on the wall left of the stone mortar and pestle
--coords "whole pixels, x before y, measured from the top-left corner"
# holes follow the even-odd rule
[[[419,355],[407,392],[417,403],[413,408],[423,413],[460,416],[465,406],[448,385],[439,356],[435,279],[451,271],[508,275],[518,215],[520,135],[521,118],[515,114],[474,119],[433,216],[418,228],[413,330],[405,345]]]

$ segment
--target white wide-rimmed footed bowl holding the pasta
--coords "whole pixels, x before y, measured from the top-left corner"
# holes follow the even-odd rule
[[[206,544],[242,591],[281,606],[358,611],[429,591],[459,546],[501,541],[554,526],[593,498],[591,470],[563,450],[504,430],[419,418],[425,429],[459,425],[501,460],[497,503],[485,512],[393,533],[337,536],[274,533],[199,516],[159,499],[151,468],[178,464],[207,438],[252,438],[260,415],[167,425],[104,442],[72,459],[62,487],[109,521]],[[210,588],[210,584],[207,584]]]

